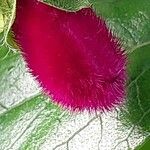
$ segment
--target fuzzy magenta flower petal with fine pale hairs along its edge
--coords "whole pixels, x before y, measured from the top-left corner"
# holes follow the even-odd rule
[[[17,0],[12,30],[28,68],[57,104],[104,111],[123,101],[126,55],[92,8],[67,12]]]

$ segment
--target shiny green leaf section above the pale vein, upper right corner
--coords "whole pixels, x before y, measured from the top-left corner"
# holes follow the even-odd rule
[[[127,51],[150,42],[149,0],[90,0],[98,14],[123,41]]]

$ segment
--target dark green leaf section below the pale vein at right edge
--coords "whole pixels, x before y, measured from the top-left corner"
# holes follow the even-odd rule
[[[124,117],[150,132],[150,44],[130,53],[128,62],[128,96]]]

